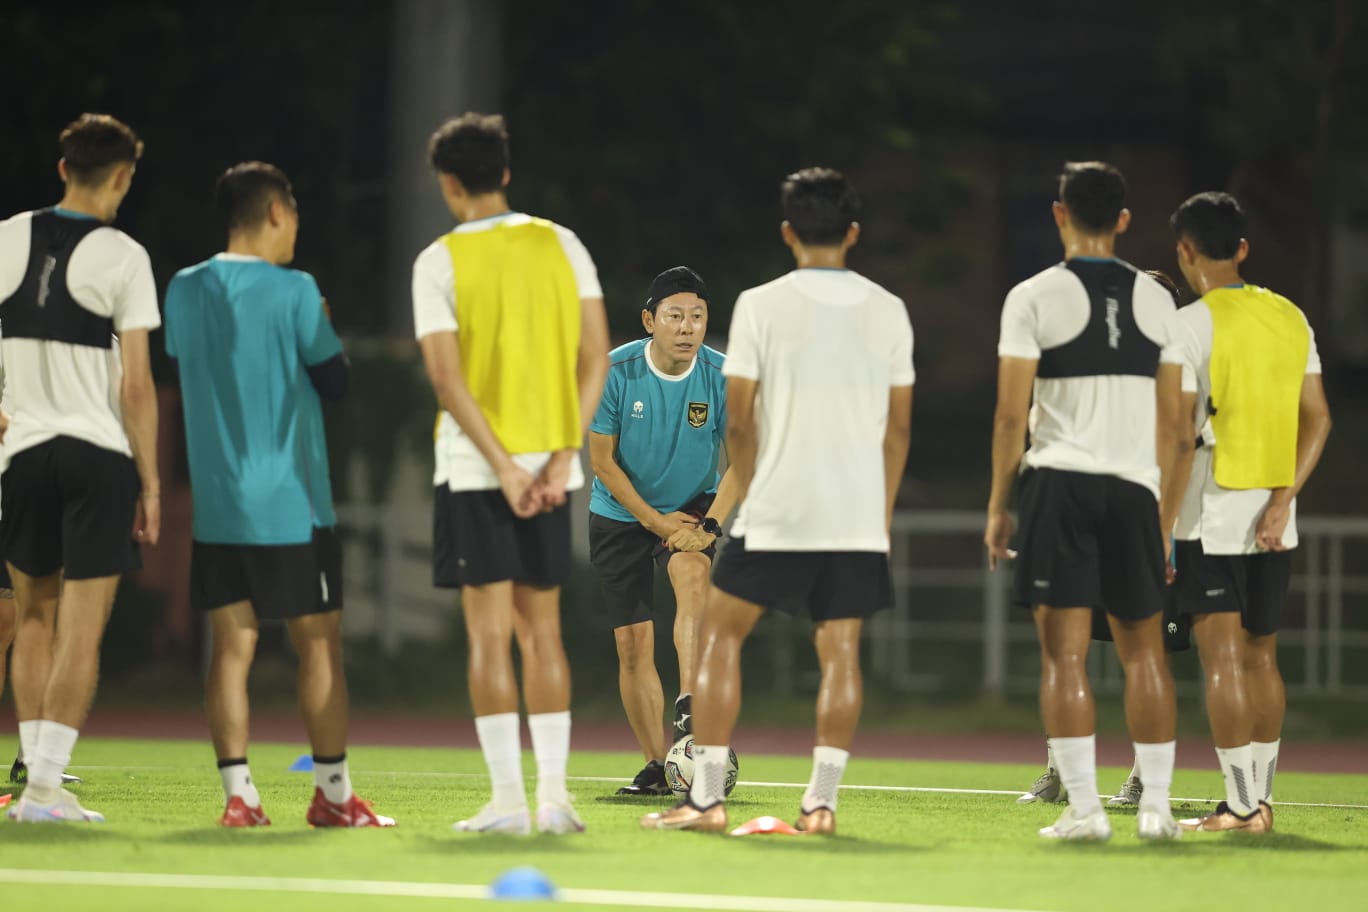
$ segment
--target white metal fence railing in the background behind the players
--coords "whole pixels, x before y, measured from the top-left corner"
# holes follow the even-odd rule
[[[387,655],[398,655],[405,640],[447,626],[454,596],[431,585],[430,510],[350,505],[339,515],[349,550],[349,634],[375,636]],[[1279,634],[1287,686],[1368,699],[1368,674],[1353,674],[1368,669],[1368,517],[1301,517],[1298,528],[1301,547]],[[1027,614],[1011,606],[1011,570],[988,570],[982,531],[978,511],[904,510],[893,517],[895,604],[867,625],[871,681],[907,693],[1036,689],[1034,629]],[[583,559],[581,532],[576,529],[576,550]],[[793,693],[815,682],[806,639],[800,623],[765,622],[758,629],[765,645],[757,645],[770,654],[774,692]],[[1175,663],[1181,688],[1197,688],[1193,667],[1196,660]],[[1100,692],[1119,689],[1120,669],[1109,648],[1093,649],[1090,670]]]

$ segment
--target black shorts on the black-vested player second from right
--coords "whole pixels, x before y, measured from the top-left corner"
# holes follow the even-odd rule
[[[1123,621],[1164,610],[1164,544],[1149,488],[1109,474],[1031,469],[1021,480],[1014,600],[1104,607]]]

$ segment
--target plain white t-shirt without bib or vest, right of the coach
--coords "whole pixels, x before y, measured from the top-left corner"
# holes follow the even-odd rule
[[[902,299],[848,269],[743,291],[722,373],[759,381],[755,477],[732,533],[755,551],[886,552],[888,391],[915,381]]]

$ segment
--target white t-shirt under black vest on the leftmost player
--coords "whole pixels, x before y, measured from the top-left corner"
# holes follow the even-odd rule
[[[33,216],[22,212],[0,222],[0,301],[19,290],[29,269]],[[115,334],[161,325],[148,252],[118,228],[101,226],[77,243],[67,264],[67,290],[82,309],[112,320]],[[118,345],[105,349],[11,338],[4,319],[0,308],[10,414],[0,468],[8,466],[14,454],[56,436],[131,455],[119,416]]]

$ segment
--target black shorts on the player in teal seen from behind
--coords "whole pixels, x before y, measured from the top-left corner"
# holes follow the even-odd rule
[[[264,621],[342,608],[342,544],[315,529],[302,544],[211,544],[190,548],[190,607],[212,611],[250,602]]]

